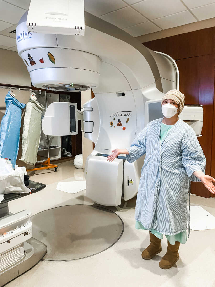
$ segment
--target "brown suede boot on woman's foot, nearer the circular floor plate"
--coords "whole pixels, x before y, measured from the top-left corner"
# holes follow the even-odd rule
[[[142,259],[149,260],[162,251],[161,239],[157,238],[149,231],[150,245],[142,251]]]

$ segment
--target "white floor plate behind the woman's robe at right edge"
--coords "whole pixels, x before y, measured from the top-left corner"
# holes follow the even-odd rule
[[[188,228],[188,220],[187,220]],[[201,206],[192,205],[190,207],[190,229],[205,230],[215,229],[215,217]]]

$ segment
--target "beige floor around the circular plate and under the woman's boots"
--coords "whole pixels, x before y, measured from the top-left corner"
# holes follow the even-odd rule
[[[85,191],[69,194],[56,190],[59,181],[83,180],[82,170],[73,162],[59,164],[58,172],[32,173],[30,179],[45,183],[44,190],[9,202],[13,213],[28,209],[32,214],[56,206],[68,204],[93,204]],[[215,199],[191,196],[192,205],[200,205],[215,216]],[[169,270],[159,268],[159,260],[165,254],[167,239],[163,239],[163,251],[154,259],[141,258],[148,246],[148,231],[134,227],[135,199],[112,208],[124,221],[125,230],[120,240],[111,248],[95,256],[64,262],[40,261],[35,267],[19,276],[7,287],[91,287],[91,286],[215,286],[215,229],[193,231],[185,245],[180,247],[180,259]]]

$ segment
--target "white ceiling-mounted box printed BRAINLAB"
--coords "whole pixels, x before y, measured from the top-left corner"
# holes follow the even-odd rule
[[[29,32],[84,36],[84,0],[31,0]]]

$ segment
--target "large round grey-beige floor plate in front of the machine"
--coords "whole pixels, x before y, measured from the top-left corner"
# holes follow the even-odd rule
[[[124,223],[111,210],[95,205],[66,205],[31,218],[33,237],[47,245],[42,260],[65,261],[89,257],[114,245]]]

